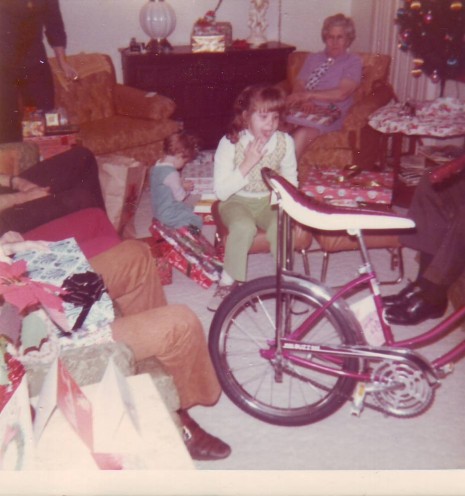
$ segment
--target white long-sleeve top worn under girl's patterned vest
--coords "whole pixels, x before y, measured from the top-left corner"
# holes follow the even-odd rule
[[[277,145],[277,135],[280,131],[275,132],[268,143],[265,145],[265,156],[273,153]],[[286,150],[281,161],[279,172],[290,183],[297,186],[297,160],[295,157],[294,141],[286,133],[284,135]],[[248,176],[243,176],[234,163],[236,146],[242,144],[244,148],[253,141],[254,137],[248,130],[242,131],[237,144],[231,143],[226,136],[221,138],[215,153],[213,183],[215,194],[218,199],[225,201],[230,196],[237,194],[248,198],[263,198],[268,193],[247,192],[243,188],[249,183]]]

